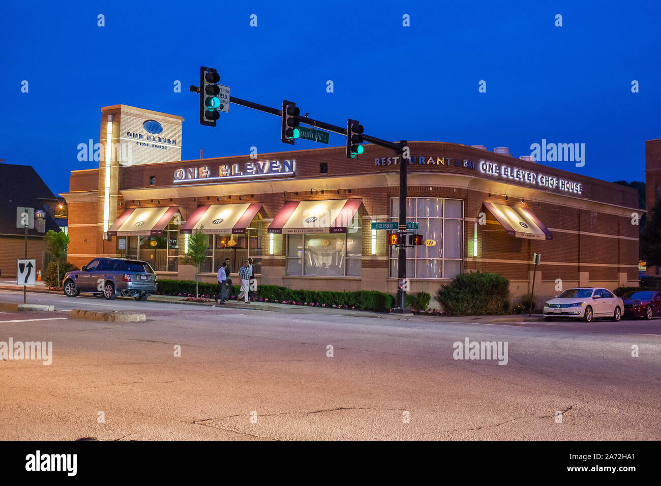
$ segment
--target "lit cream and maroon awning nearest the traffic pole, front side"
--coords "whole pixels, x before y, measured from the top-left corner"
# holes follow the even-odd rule
[[[346,233],[362,203],[360,198],[286,202],[268,233]]]

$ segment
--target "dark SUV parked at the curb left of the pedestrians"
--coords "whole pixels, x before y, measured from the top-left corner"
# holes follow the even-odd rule
[[[156,272],[149,263],[121,258],[95,258],[80,270],[67,272],[62,279],[67,297],[90,292],[108,300],[131,296],[144,301],[157,287]]]

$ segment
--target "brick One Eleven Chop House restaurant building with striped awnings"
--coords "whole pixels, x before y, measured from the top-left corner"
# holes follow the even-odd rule
[[[329,147],[180,161],[180,151],[154,142],[147,128],[170,124],[167,138],[180,148],[181,121],[124,105],[102,108],[102,138],[144,141],[143,153],[131,158],[124,147],[106,147],[99,169],[71,173],[61,194],[70,261],[126,254],[149,261],[161,278],[193,278],[194,268],[178,258],[186,235],[202,226],[210,249],[201,280],[215,281],[225,257],[233,272],[252,257],[261,284],[395,294],[397,255],[371,222],[397,220],[397,157],[366,145],[356,159]],[[504,274],[516,298],[529,290],[533,253],[542,254],[540,298],[559,285],[637,285],[636,190],[479,146],[408,146],[408,217],[425,239],[408,250],[411,292],[434,296],[457,273],[479,269]]]

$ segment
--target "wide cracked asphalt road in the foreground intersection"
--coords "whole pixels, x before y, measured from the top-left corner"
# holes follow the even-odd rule
[[[3,440],[661,438],[659,319],[487,324],[48,294],[29,302],[129,309],[147,321],[0,313],[0,341],[53,343],[50,365],[0,360]],[[507,342],[507,364],[455,360],[465,338]]]

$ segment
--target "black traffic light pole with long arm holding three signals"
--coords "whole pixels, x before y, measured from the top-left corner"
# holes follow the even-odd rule
[[[196,86],[191,86],[190,91],[193,93],[200,93],[200,88]],[[229,97],[229,102],[233,104],[239,104],[245,106],[246,108],[252,108],[253,110],[258,110],[264,113],[270,113],[275,116],[282,117],[282,110],[279,108],[273,108],[272,106],[266,106],[265,104],[255,103],[253,101],[244,100],[241,98]],[[308,118],[307,116],[297,116],[297,119],[300,123],[304,123],[313,128],[321,128],[321,130],[326,130],[327,132],[333,132],[335,134],[347,135],[346,127],[332,125],[330,123],[322,122],[320,120],[314,120],[313,118]],[[385,147],[391,149],[399,155],[399,223],[397,233],[402,236],[402,239],[406,239],[407,231],[407,161],[403,159],[402,155],[407,146],[407,142],[402,140],[399,143],[388,142],[381,138],[372,137],[369,135],[363,134],[365,142],[373,143],[374,145],[379,145],[379,147]],[[397,245],[397,313],[409,313],[410,310],[407,309],[407,291],[405,290],[407,278],[407,247],[406,244]]]

